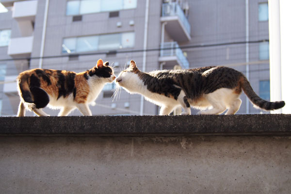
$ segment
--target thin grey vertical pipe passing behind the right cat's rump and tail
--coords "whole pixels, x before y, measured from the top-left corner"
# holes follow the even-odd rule
[[[249,0],[245,0],[245,77],[249,80]],[[245,98],[246,113],[250,113],[249,99]]]

